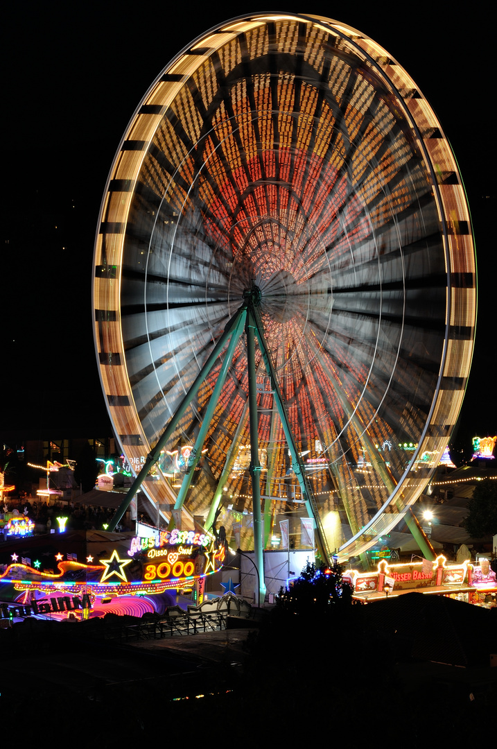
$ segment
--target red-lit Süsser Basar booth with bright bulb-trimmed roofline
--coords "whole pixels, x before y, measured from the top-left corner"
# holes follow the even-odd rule
[[[381,560],[374,572],[347,569],[344,581],[353,586],[354,598],[363,603],[416,591],[485,607],[497,605],[496,573],[489,560],[451,564],[442,555],[433,562],[390,564]]]

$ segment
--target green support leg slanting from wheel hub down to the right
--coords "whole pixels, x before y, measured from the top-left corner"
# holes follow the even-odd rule
[[[248,312],[248,314],[250,314],[250,312]],[[260,351],[263,357],[264,364],[266,365],[266,372],[271,380],[271,387],[274,392],[276,406],[278,408],[278,413],[281,419],[281,425],[283,426],[284,436],[287,440],[288,449],[290,450],[290,455],[292,457],[292,468],[299,482],[308,516],[309,518],[312,518],[314,520],[314,527],[317,530],[317,546],[319,552],[321,554],[323,562],[328,564],[329,560],[331,559],[331,554],[329,553],[329,548],[326,543],[326,538],[323,532],[323,527],[320,523],[319,515],[317,514],[317,509],[314,510],[314,507],[311,503],[311,488],[310,486],[308,486],[308,482],[305,479],[305,469],[302,465],[302,461],[300,460],[299,451],[297,450],[297,446],[293,438],[293,432],[290,428],[290,422],[287,418],[287,411],[283,404],[283,396],[281,395],[278,380],[276,379],[276,373],[269,358],[269,352],[266,345],[266,339],[264,338],[262,324],[260,323],[260,319],[257,315],[254,315],[254,321],[257,330],[257,339],[259,341]]]

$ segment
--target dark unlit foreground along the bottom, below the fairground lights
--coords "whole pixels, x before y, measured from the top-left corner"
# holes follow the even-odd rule
[[[293,626],[269,617],[259,631],[136,643],[106,640],[103,627],[96,635],[79,624],[26,620],[0,631],[2,743],[43,744],[45,737],[104,749],[210,736],[249,746],[265,736],[352,746],[395,741],[409,749],[427,739],[492,740],[497,668],[471,647],[452,657],[466,658],[465,666],[434,662],[424,637],[409,631],[443,625],[439,652],[448,644],[456,652],[460,635],[445,605],[427,611],[426,598],[424,610],[409,616],[405,602],[402,612],[388,601],[383,610],[350,607]],[[470,646],[478,637],[495,642],[496,617],[481,622],[479,633],[467,633]]]

